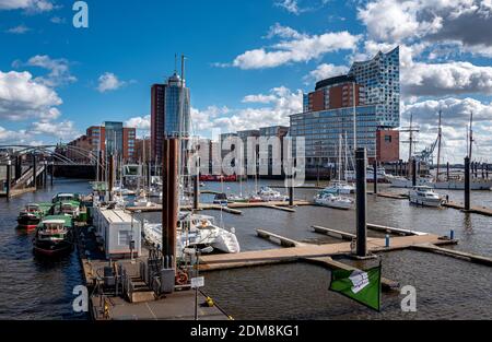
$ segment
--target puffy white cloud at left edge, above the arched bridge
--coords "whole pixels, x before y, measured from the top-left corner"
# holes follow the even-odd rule
[[[61,104],[62,101],[58,94],[45,84],[33,80],[30,72],[0,71],[1,119],[56,119],[60,116],[56,107]]]

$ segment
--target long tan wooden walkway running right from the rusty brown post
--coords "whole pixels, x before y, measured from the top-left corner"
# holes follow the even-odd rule
[[[449,245],[456,244],[456,241],[444,239],[434,234],[396,236],[391,238],[390,246],[385,247],[385,238],[367,238],[367,250],[368,252],[400,250],[422,244]],[[200,270],[211,271],[278,262],[293,262],[306,258],[350,255],[351,251],[351,243],[339,243],[326,245],[305,244],[304,246],[290,248],[243,251],[227,255],[208,255],[200,258]]]

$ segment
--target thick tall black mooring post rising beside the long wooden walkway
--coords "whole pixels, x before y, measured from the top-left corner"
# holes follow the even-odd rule
[[[356,255],[365,257],[367,255],[367,223],[366,223],[366,160],[365,149],[355,150],[355,175],[356,175],[356,193],[355,193],[355,214],[356,214]]]

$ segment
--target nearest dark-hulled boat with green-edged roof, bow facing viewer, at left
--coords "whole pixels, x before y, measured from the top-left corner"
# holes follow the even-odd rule
[[[60,256],[73,249],[72,219],[69,216],[46,216],[37,226],[33,250],[43,256]]]

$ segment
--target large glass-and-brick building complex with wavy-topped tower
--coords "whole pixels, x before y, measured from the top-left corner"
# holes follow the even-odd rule
[[[290,135],[305,139],[306,167],[335,163],[340,139],[349,152],[355,142],[366,148],[370,160],[398,160],[398,131],[393,129],[400,122],[399,94],[398,47],[354,62],[347,75],[317,82],[315,91],[304,95],[304,113],[291,116]],[[386,135],[389,141],[377,143],[377,137]]]

